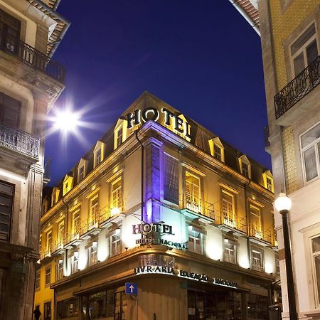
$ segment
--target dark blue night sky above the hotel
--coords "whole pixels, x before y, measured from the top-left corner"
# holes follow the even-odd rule
[[[270,167],[260,38],[228,0],[63,0],[58,12],[72,24],[53,56],[67,74],[55,106],[86,106],[96,129],[85,144],[47,138],[51,184],[144,90]]]

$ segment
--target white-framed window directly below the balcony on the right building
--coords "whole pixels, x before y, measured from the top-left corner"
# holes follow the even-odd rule
[[[309,182],[320,174],[320,123],[301,136],[304,181]]]

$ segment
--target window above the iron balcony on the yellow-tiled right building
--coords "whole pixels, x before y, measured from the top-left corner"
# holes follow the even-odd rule
[[[291,46],[294,75],[298,75],[319,55],[314,23]]]

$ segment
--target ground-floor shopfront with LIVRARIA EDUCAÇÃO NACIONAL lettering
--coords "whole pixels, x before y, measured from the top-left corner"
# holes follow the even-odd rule
[[[119,265],[55,284],[53,319],[270,319],[271,277],[161,255],[135,261],[127,265],[131,270]],[[125,293],[126,282],[137,284],[137,295]]]

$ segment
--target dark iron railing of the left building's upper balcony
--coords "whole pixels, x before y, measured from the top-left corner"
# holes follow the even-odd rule
[[[4,38],[5,36],[4,31],[0,32],[0,38]],[[0,50],[3,50],[9,55],[16,56],[16,58],[21,60],[23,63],[46,73],[46,75],[49,75],[51,78],[58,80],[59,82],[65,81],[65,68],[63,65],[60,65],[60,63],[49,58],[47,55],[29,46],[23,41],[16,41],[15,43],[1,41]]]

